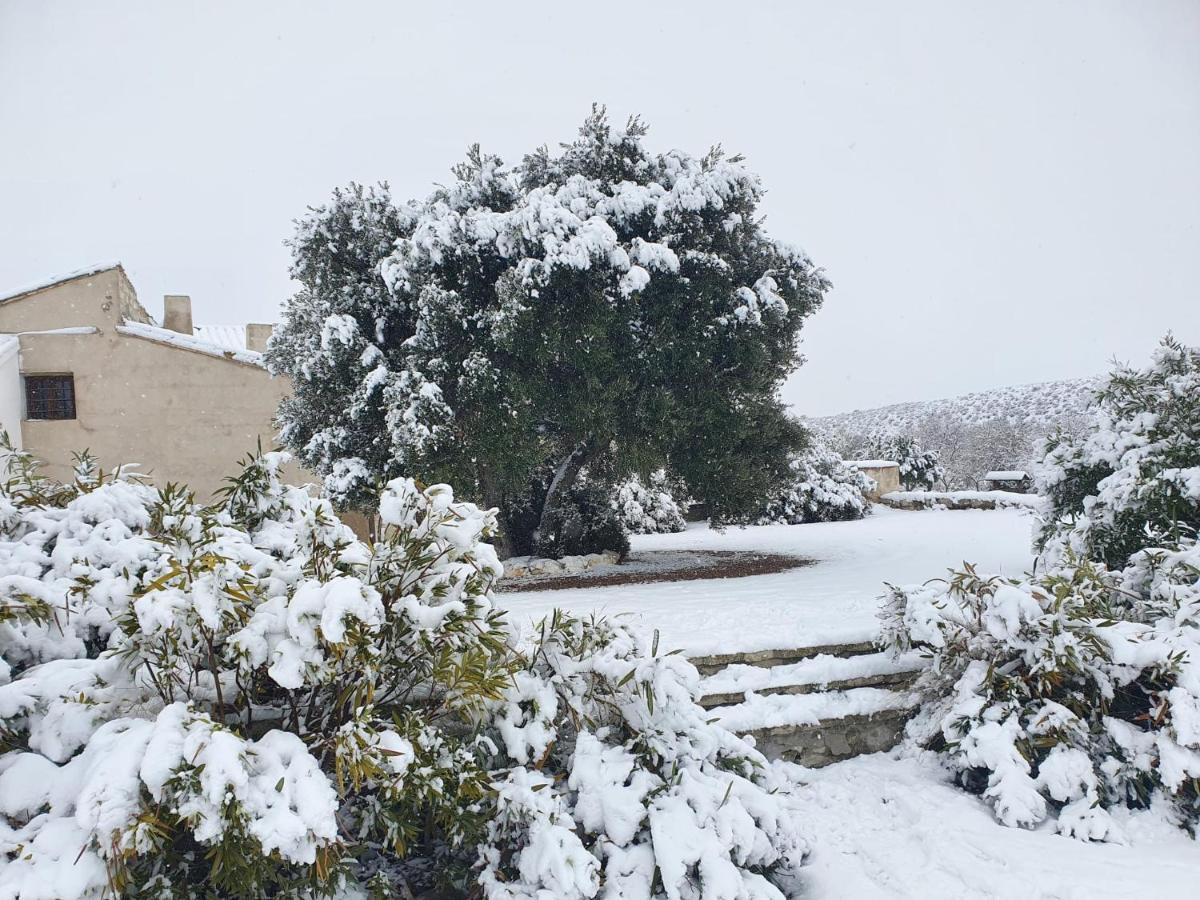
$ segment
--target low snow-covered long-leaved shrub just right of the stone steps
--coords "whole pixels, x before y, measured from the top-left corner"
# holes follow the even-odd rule
[[[893,588],[884,634],[934,665],[910,736],[940,748],[1009,826],[1049,816],[1120,840],[1108,810],[1165,800],[1200,823],[1200,547],[1121,571],[1068,556],[1037,578],[967,568]]]

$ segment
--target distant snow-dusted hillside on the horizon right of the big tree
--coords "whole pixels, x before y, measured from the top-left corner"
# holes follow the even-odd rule
[[[852,433],[880,428],[914,432],[930,419],[950,420],[962,425],[983,425],[1001,420],[1044,432],[1055,425],[1068,425],[1076,420],[1087,408],[1092,391],[1098,384],[1098,378],[1019,384],[946,400],[912,401],[875,409],[856,409],[852,413],[827,415],[812,421],[828,431]]]

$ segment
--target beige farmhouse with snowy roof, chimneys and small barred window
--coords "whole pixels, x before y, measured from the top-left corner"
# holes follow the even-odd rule
[[[160,325],[119,263],[0,295],[0,427],[54,478],[88,449],[106,470],[136,462],[208,499],[259,442],[275,445],[290,385],[263,366],[270,334],[196,328],[187,296],[164,299]]]

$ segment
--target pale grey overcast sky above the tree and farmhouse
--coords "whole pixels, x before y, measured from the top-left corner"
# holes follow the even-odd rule
[[[0,293],[120,259],[155,316],[274,320],[335,185],[424,196],[593,101],[744,154],[827,270],[802,413],[1200,343],[1198,0],[0,0]]]

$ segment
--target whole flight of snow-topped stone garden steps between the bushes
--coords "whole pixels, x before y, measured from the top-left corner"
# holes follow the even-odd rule
[[[924,661],[871,642],[692,658],[701,706],[772,758],[827,766],[895,745]]]

